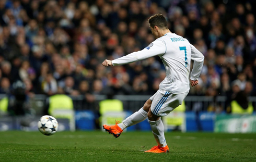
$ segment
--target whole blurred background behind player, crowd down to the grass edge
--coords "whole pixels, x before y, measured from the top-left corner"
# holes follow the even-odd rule
[[[165,78],[161,59],[101,63],[153,42],[147,20],[160,13],[171,32],[205,56],[199,84],[166,118],[166,130],[256,132],[255,6],[253,0],[2,0],[0,130],[32,130],[46,114],[67,118],[64,130],[94,130],[110,121],[108,111],[122,120],[141,108]],[[146,121],[131,128],[143,129],[150,130]]]

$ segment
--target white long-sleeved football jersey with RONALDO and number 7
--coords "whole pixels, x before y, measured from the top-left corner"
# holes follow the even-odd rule
[[[166,78],[159,89],[173,94],[189,90],[190,60],[194,60],[191,80],[198,80],[204,62],[204,56],[187,39],[175,33],[167,33],[156,39],[142,51],[112,60],[113,66],[133,63],[134,61],[159,56],[166,68]]]

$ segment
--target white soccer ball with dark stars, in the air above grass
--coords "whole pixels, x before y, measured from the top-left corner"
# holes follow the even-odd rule
[[[59,124],[54,117],[44,115],[38,121],[37,126],[38,130],[44,135],[53,135],[58,130]]]

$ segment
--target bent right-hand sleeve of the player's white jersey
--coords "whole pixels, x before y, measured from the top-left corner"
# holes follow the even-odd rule
[[[198,51],[192,44],[191,46],[191,59],[194,60],[193,69],[190,74],[191,80],[198,80],[204,65],[204,55]]]

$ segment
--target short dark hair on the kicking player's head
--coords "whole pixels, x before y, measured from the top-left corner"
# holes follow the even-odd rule
[[[148,19],[150,27],[154,28],[157,26],[160,29],[168,29],[167,21],[162,14],[155,14]]]

